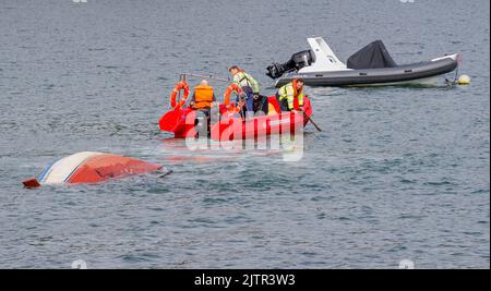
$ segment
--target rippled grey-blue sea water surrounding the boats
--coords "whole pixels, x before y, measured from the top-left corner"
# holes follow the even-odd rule
[[[0,267],[489,268],[489,5],[1,1]],[[179,72],[239,64],[272,94],[265,66],[309,35],[342,60],[374,39],[399,63],[462,52],[472,84],[308,88],[324,131],[296,163],[163,141]],[[173,174],[22,189],[82,150]]]

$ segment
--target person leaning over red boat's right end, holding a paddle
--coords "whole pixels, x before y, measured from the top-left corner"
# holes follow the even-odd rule
[[[282,111],[303,111],[303,85],[306,82],[301,78],[294,78],[290,83],[284,85],[276,93]]]

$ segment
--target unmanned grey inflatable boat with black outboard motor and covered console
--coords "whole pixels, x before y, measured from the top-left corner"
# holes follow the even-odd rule
[[[310,50],[295,53],[286,63],[267,68],[275,86],[301,77],[310,86],[378,86],[426,84],[434,76],[454,71],[460,62],[458,53],[426,62],[398,65],[381,40],[375,40],[349,57],[347,64],[334,54],[322,37],[308,38]]]

